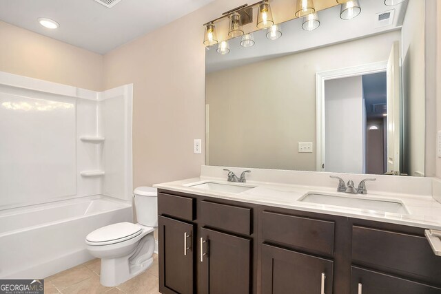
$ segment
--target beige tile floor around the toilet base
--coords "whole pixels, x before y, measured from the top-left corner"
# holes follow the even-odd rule
[[[99,274],[101,260],[90,260],[75,266],[72,269],[56,273],[44,279],[45,294],[156,294],[158,291],[158,255],[154,254],[153,264],[150,269],[128,280],[127,282],[113,287],[101,286]]]

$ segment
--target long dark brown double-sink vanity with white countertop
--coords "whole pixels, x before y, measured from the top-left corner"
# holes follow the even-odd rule
[[[407,213],[369,211],[298,201],[324,187],[270,186],[156,185],[161,293],[441,293],[441,256],[424,235],[441,222],[416,208],[440,203],[402,196]]]

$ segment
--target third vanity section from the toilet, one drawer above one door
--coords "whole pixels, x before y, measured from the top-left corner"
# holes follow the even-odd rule
[[[262,211],[263,294],[334,293],[334,222]]]

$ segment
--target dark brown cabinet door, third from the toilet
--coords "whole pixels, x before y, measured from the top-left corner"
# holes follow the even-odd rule
[[[332,294],[334,262],[262,244],[263,294]]]

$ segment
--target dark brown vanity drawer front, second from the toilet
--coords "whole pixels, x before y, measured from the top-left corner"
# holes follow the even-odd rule
[[[208,227],[251,235],[252,209],[201,201],[201,221]]]

